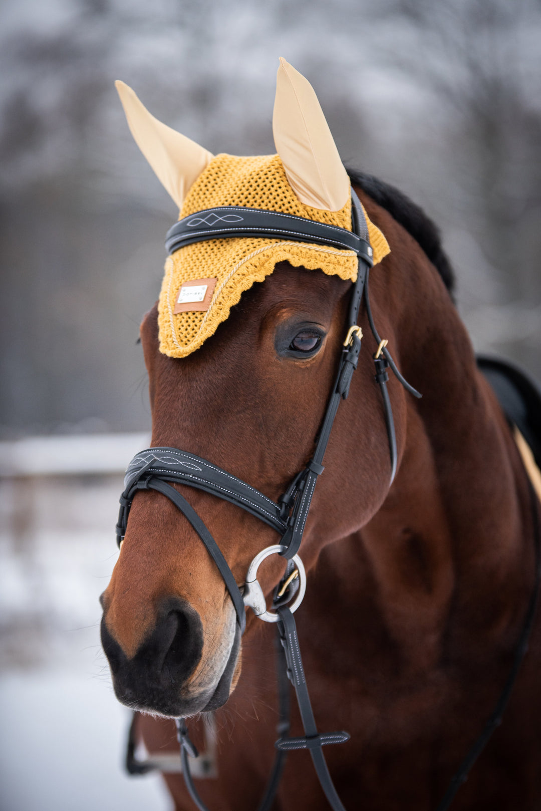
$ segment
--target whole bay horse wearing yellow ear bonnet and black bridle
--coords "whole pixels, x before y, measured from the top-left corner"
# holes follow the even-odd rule
[[[530,430],[523,376],[506,418],[444,284],[434,226],[374,178],[352,174],[351,187],[315,93],[286,62],[273,156],[213,156],[118,90],[180,219],[141,325],[152,446],[127,470],[101,634],[119,700],[146,713],[135,715],[145,743],[161,749],[178,719],[187,789],[166,777],[175,807],[198,796],[185,718],[229,700],[245,723],[208,797],[238,809],[260,792],[278,703],[274,777],[282,750],[310,749],[329,804],[344,808],[321,747],[348,736],[318,732],[295,649],[307,581],[295,616],[318,723],[354,733],[342,753],[328,748],[348,807],[363,796],[419,811],[441,796],[444,811],[481,751],[462,807],[537,807],[539,509],[509,430]],[[531,402],[539,420],[539,394]],[[291,726],[254,615],[277,622]],[[517,677],[511,723],[484,751]],[[239,712],[243,696],[262,699],[264,723]],[[285,775],[277,807],[326,807],[305,770]]]

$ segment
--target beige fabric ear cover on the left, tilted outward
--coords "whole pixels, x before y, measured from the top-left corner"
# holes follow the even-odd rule
[[[135,143],[178,208],[182,208],[188,191],[213,160],[213,154],[154,118],[127,84],[114,84]]]

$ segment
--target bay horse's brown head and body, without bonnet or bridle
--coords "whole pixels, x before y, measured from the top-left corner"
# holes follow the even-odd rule
[[[134,131],[133,116],[130,123]],[[371,270],[371,315],[423,397],[390,376],[397,471],[389,483],[374,378],[380,346],[362,306],[359,366],[299,550],[307,590],[295,619],[314,714],[321,730],[350,733],[325,747],[328,769],[346,809],[432,811],[495,707],[494,727],[507,704],[467,782],[453,790],[453,809],[538,809],[537,501],[453,303],[436,227],[376,178],[350,171],[348,182],[390,247]],[[313,453],[353,285],[279,260],[184,357],[164,352],[152,307],[140,328],[151,447],[188,448],[277,502]],[[174,489],[204,518],[242,587],[254,557],[279,542],[276,530],[213,493]],[[280,556],[261,566],[268,599],[285,567]],[[195,778],[200,798],[212,811],[257,808],[279,721],[274,629],[250,611],[241,640],[215,561],[161,492],[143,488],[133,498],[102,605],[103,646],[118,699],[137,710],[137,740],[151,753],[178,753],[174,718],[182,715],[204,749],[212,716],[216,771]],[[525,624],[529,650],[517,656]],[[303,736],[296,706],[290,732]],[[182,775],[164,777],[175,809],[193,809]],[[272,809],[328,807],[307,749],[291,752]]]

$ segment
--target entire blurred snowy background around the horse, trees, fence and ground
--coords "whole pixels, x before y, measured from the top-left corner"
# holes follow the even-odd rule
[[[268,153],[286,57],[346,164],[440,225],[476,349],[541,379],[539,42],[535,0],[0,4],[0,811],[170,808],[122,773],[98,639],[178,213],[114,79],[213,152]]]

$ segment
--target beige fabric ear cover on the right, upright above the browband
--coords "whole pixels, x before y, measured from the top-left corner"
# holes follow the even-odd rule
[[[350,196],[340,160],[311,84],[280,58],[273,114],[274,144],[298,200],[338,211]]]

